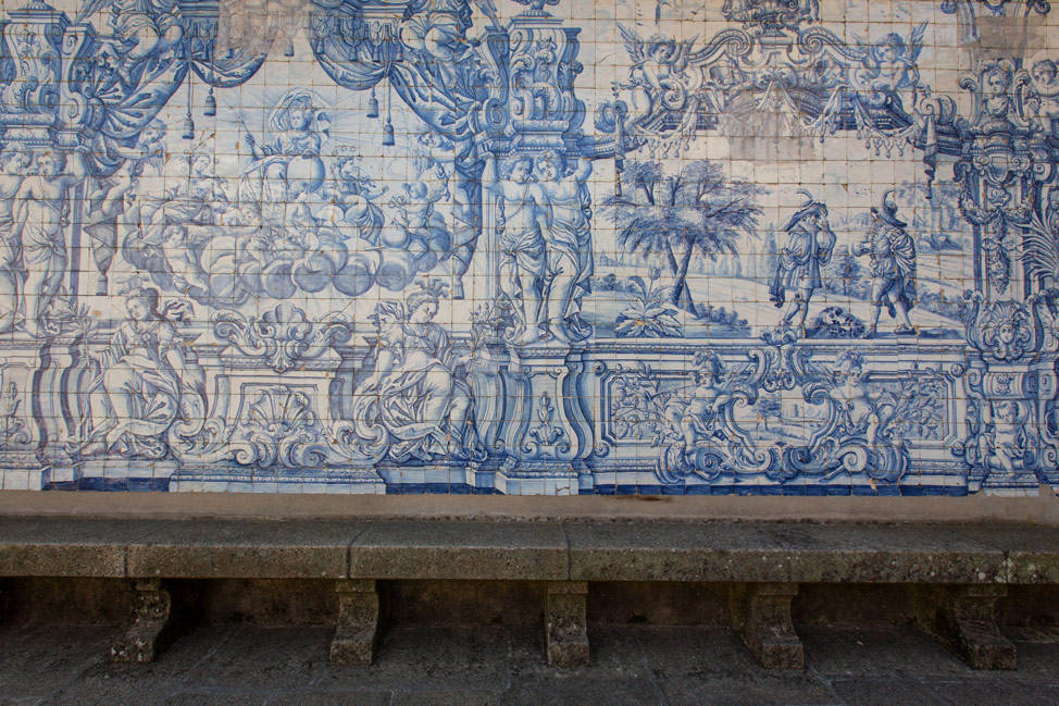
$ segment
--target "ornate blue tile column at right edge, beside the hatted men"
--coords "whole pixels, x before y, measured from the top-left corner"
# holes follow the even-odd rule
[[[1018,109],[1025,80],[1007,60],[984,62],[960,79],[973,112],[955,175],[960,211],[974,231],[975,289],[964,295],[968,435],[956,454],[968,463],[970,492],[1036,494],[1059,482],[1055,290],[1044,288],[1032,257],[1035,239],[1059,237],[1046,232],[1052,219],[1041,202],[1056,188],[1056,159],[1045,126]]]

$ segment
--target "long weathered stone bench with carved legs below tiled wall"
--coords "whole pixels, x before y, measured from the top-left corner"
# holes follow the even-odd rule
[[[191,602],[177,580],[335,582],[332,660],[370,664],[376,581],[546,585],[548,661],[588,660],[593,582],[730,584],[735,629],[767,667],[803,666],[790,602],[799,584],[910,584],[915,618],[972,667],[1014,668],[994,618],[1009,585],[1059,583],[1059,529],[471,520],[114,520],[0,518],[0,578],[123,579],[132,616],[112,657],[149,661]]]

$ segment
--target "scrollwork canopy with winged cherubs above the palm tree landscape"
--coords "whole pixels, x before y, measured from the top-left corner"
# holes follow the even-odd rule
[[[722,30],[701,48],[621,27],[633,67],[614,91],[632,94],[635,109],[623,132],[634,145],[671,153],[703,129],[820,139],[852,129],[876,152],[892,153],[914,145],[929,117],[951,117],[951,101],[932,103],[920,78],[925,25],[854,45],[824,27],[801,28],[819,20],[817,2],[724,9],[750,30]],[[607,129],[608,121],[597,127]]]

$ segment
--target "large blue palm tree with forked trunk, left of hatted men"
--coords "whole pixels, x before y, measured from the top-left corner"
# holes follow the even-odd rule
[[[753,233],[764,189],[730,179],[720,165],[699,161],[665,176],[656,162],[630,161],[622,173],[622,196],[603,201],[626,252],[660,253],[675,277],[669,302],[696,312],[687,273],[696,256],[715,260],[736,252],[743,233]]]

